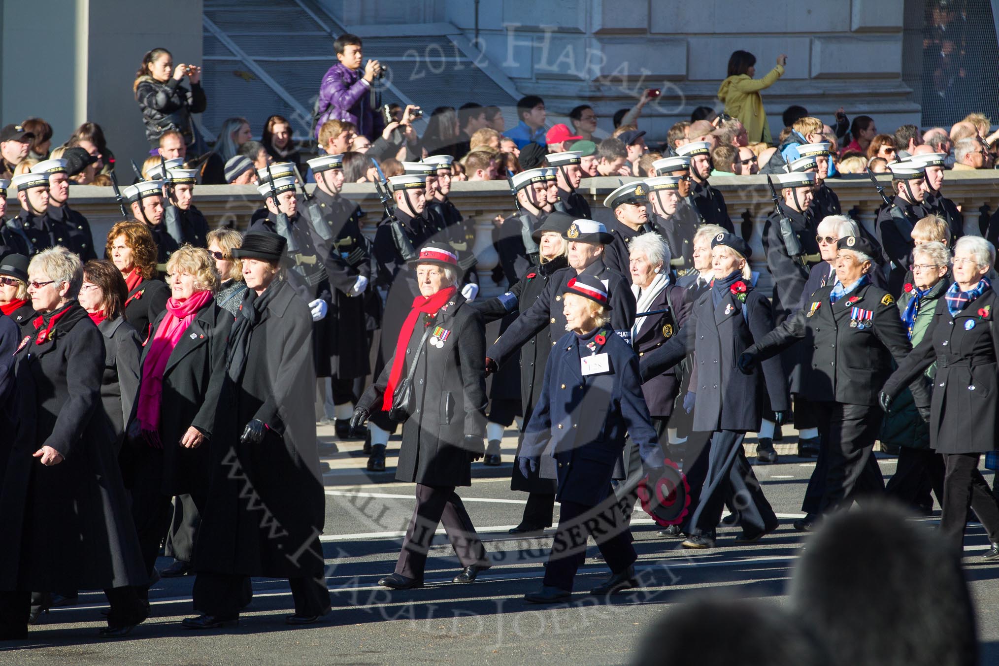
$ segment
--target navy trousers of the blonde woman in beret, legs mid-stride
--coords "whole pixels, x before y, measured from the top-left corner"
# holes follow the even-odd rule
[[[776,527],[777,516],[746,460],[744,438],[745,432],[734,430],[719,430],[711,435],[704,489],[690,520],[693,533],[714,534],[726,498],[730,498],[746,532]]]

